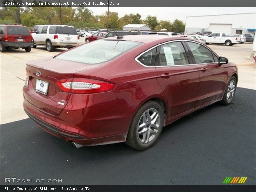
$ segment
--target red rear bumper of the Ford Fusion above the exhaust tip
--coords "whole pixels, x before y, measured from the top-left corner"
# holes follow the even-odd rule
[[[105,95],[106,99],[100,94],[99,96],[93,94],[94,98],[88,97],[90,101],[96,100],[95,103],[85,102],[82,95],[73,95],[74,98],[69,99],[67,106],[58,116],[36,108],[25,98],[23,107],[28,116],[42,129],[67,142],[76,142],[81,145],[124,142],[135,108],[124,106],[116,98],[110,100],[116,107],[109,108],[109,104],[105,102],[113,94],[108,92]],[[100,100],[103,103],[98,102]],[[76,105],[76,101],[80,104]]]

